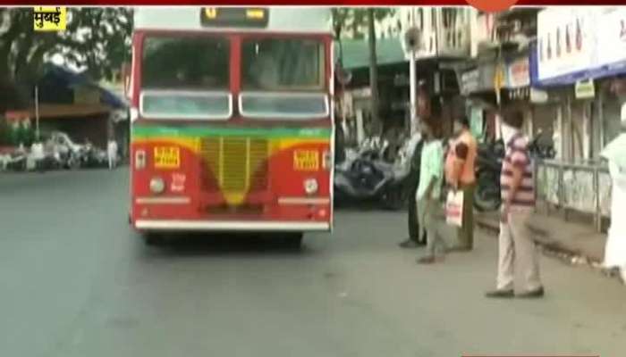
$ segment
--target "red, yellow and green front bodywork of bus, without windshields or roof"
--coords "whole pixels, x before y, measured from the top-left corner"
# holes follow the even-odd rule
[[[142,114],[142,54],[151,36],[219,37],[228,42],[227,90],[233,108],[227,120],[149,119]],[[327,117],[258,120],[242,114],[241,44],[249,38],[309,38],[323,44]],[[330,33],[136,29],[132,52],[130,220],[134,228],[147,233],[332,229]]]

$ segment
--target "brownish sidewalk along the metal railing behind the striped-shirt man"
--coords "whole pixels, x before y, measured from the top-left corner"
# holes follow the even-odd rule
[[[478,227],[499,231],[498,212],[478,213]],[[590,262],[604,260],[606,235],[597,233],[594,227],[586,223],[563,220],[562,217],[548,216],[542,212],[533,214],[530,222],[536,235],[537,244],[560,253],[582,256]]]

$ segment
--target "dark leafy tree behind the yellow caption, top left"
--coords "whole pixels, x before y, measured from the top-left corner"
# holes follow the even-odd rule
[[[33,30],[31,8],[0,8],[0,89],[32,83],[55,54],[88,72],[93,79],[111,78],[131,57],[130,8],[68,8],[67,29]],[[7,92],[5,92],[7,93]],[[10,93],[10,92],[9,92]],[[0,110],[16,98],[0,99]]]

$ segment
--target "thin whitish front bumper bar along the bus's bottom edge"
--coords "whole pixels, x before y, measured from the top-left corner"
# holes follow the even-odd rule
[[[216,232],[328,232],[329,222],[250,220],[136,220],[135,228],[146,231]]]

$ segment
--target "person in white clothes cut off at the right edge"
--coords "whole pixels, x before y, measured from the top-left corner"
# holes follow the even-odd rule
[[[626,283],[626,220],[618,218],[626,211],[626,104],[622,106],[622,134],[606,145],[601,155],[608,161],[612,181],[611,228],[606,239],[604,265],[619,269]]]

